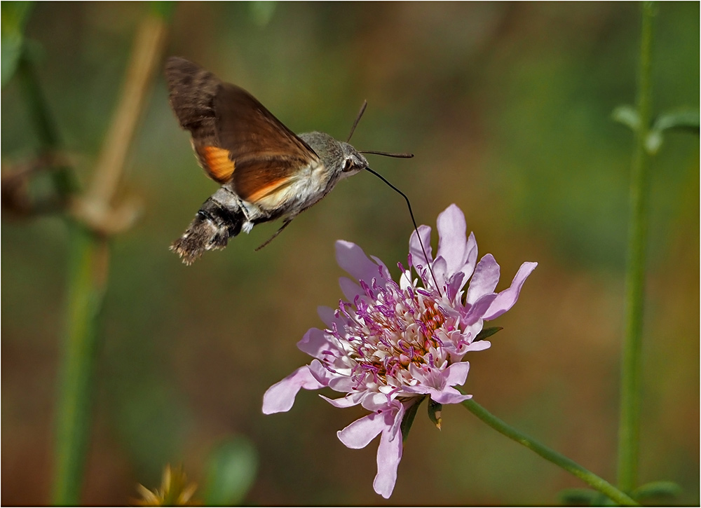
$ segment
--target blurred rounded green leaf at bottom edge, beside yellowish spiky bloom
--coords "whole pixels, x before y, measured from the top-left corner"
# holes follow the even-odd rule
[[[205,476],[205,506],[242,504],[258,469],[258,453],[251,441],[234,437],[215,448]]]

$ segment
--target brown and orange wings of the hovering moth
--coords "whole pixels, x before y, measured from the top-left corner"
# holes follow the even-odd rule
[[[313,149],[250,93],[179,57],[165,66],[170,104],[205,172],[231,182],[244,200],[256,202],[284,188],[309,165]]]

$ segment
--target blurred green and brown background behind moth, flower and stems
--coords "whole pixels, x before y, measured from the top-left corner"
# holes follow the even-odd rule
[[[27,37],[79,176],[88,181],[123,82],[135,3],[39,3]],[[634,3],[182,3],[165,56],[181,55],[252,92],[295,132],[345,139],[409,195],[420,224],[452,202],[480,256],[508,286],[538,261],[466,387],[508,423],[615,481],[627,181],[632,134],[611,120],[634,102]],[[699,4],[655,19],[654,111],[699,106]],[[2,89],[4,164],[38,146],[19,83]],[[699,139],[665,137],[652,165],[644,336],[641,481],[699,500]],[[336,430],[362,409],[302,392],[292,411],[261,399],[308,357],[295,343],[341,297],[334,240],[388,266],[406,261],[411,223],[369,174],[343,181],[260,252],[258,226],[186,267],[168,251],[217,185],[196,165],[158,76],[121,193],[144,215],[112,242],[95,418],[83,501],[123,504],[166,462],[203,481],[222,439],[247,437],[259,471],[250,504],[553,504],[582,486],[460,406],[443,430],[419,413],[393,497],[372,490],[377,442],[345,448]],[[2,504],[46,504],[67,234],[56,217],[3,212]],[[435,238],[434,238],[435,242]],[[435,244],[434,244],[435,245]],[[398,270],[395,270],[395,273]]]

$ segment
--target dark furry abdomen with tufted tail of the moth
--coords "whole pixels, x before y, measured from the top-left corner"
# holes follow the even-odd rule
[[[208,198],[200,207],[185,233],[175,240],[170,250],[190,265],[205,250],[224,249],[229,238],[238,235],[247,222],[243,210],[235,203]]]

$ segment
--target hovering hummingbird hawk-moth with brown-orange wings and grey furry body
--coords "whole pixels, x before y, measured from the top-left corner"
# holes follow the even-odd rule
[[[241,231],[283,219],[270,242],[341,179],[372,171],[363,153],[411,157],[360,152],[323,132],[295,135],[243,88],[184,58],[170,57],[165,76],[170,104],[192,136],[198,162],[221,184],[170,247],[188,265],[206,250],[224,249]]]

